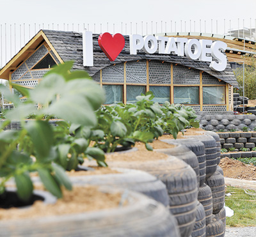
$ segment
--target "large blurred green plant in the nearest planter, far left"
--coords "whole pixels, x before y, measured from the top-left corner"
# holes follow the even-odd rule
[[[0,194],[10,178],[14,178],[20,199],[28,200],[33,191],[29,172],[38,172],[45,188],[56,197],[61,197],[61,186],[71,189],[72,185],[65,169],[74,169],[79,158],[96,158],[105,165],[104,153],[99,148],[88,148],[88,141],[70,135],[72,127],[84,126],[88,129],[97,125],[94,111],[104,101],[104,93],[85,72],[71,72],[72,62],[52,69],[35,89],[26,89],[12,84],[27,97],[21,103],[16,94],[0,85],[4,96],[15,104],[6,112],[0,132]],[[58,97],[58,100],[56,99]],[[36,109],[35,104],[42,109]],[[35,120],[25,123],[29,114]],[[49,114],[47,119],[44,114]],[[55,128],[49,124],[50,116],[63,119]],[[3,131],[11,121],[20,121],[20,130]],[[63,167],[65,169],[63,169]]]

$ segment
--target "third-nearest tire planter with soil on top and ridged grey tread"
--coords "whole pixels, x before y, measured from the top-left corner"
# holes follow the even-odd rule
[[[136,162],[108,162],[109,167],[140,169],[159,178],[166,185],[169,195],[169,209],[176,218],[180,236],[189,236],[195,225],[198,181],[195,171],[177,157],[164,160],[143,160]]]

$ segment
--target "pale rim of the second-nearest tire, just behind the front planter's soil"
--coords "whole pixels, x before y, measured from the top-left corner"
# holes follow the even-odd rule
[[[129,190],[140,192],[155,199],[164,206],[169,205],[168,192],[166,186],[155,176],[144,171],[134,169],[112,168],[116,174],[98,174],[84,176],[70,176],[74,185],[111,185],[113,187],[128,188]]]

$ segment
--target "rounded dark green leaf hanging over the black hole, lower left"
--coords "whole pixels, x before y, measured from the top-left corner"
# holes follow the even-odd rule
[[[29,177],[29,174],[16,174],[14,176],[17,186],[17,194],[20,199],[28,201],[33,192],[33,183]]]

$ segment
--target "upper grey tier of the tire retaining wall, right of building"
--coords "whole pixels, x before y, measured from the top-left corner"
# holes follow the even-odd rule
[[[249,130],[256,127],[255,114],[233,114],[232,111],[225,111],[223,114],[210,115],[207,112],[197,112],[197,119],[200,121],[200,127],[204,130],[218,132],[220,129],[230,131],[233,129],[243,130],[246,126]]]

